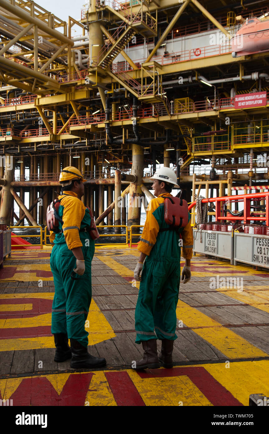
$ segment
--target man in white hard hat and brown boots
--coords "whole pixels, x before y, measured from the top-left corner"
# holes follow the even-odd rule
[[[142,342],[144,355],[142,360],[132,365],[134,369],[159,368],[159,362],[164,368],[172,368],[173,343],[177,339],[176,306],[182,241],[185,257],[182,280],[186,283],[191,279],[193,234],[190,214],[188,212],[187,226],[177,230],[172,229],[164,219],[165,197],[172,197],[174,185],[179,187],[176,175],[172,169],[164,167],[150,179],[153,180],[152,189],[156,197],[149,203],[137,247],[141,254],[134,270],[134,279],[140,280],[135,311],[136,343]],[[157,339],[162,340],[159,359]]]

